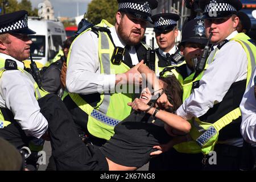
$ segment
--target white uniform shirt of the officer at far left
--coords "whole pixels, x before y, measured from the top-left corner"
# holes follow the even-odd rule
[[[24,64],[11,56],[0,53],[3,59],[16,61],[19,68]],[[18,70],[3,72],[0,79],[0,107],[9,109],[16,122],[28,136],[42,137],[48,128],[48,122],[40,113],[35,98],[34,83]]]

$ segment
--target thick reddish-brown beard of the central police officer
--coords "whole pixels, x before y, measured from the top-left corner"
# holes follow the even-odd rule
[[[125,29],[126,28],[121,21],[117,28],[117,33],[118,33],[118,36],[122,39],[122,41],[125,44],[127,44],[129,46],[135,46],[141,42],[141,40],[142,40],[142,31],[141,30],[137,30],[136,28],[134,28],[133,30],[131,30],[130,34],[127,35],[127,33],[125,32]],[[140,34],[140,36],[134,36],[133,33]]]

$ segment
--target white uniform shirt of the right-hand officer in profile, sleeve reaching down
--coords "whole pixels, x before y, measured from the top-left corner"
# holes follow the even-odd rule
[[[234,31],[226,39],[232,39],[237,34]],[[234,82],[246,79],[247,64],[246,53],[241,44],[234,40],[226,43],[204,72],[199,88],[177,109],[177,115],[191,119],[207,113],[214,104],[222,101]]]

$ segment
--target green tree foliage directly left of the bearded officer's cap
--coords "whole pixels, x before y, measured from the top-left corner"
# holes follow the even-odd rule
[[[102,19],[114,24],[117,10],[118,3],[115,0],[92,0],[85,17],[93,24],[100,23]]]

